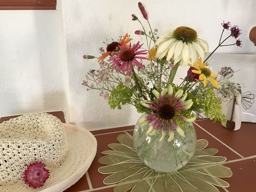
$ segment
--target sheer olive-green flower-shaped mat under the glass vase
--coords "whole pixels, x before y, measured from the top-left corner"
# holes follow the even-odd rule
[[[104,184],[114,184],[115,192],[215,192],[219,191],[215,186],[228,187],[229,184],[221,180],[221,177],[231,177],[230,168],[221,163],[226,157],[214,156],[218,149],[205,149],[206,140],[197,141],[197,149],[194,156],[183,168],[174,173],[159,173],[140,161],[134,147],[133,139],[129,133],[117,136],[120,143],[111,143],[112,150],[102,152],[105,156],[98,159],[101,164],[99,173],[111,174],[104,179]]]

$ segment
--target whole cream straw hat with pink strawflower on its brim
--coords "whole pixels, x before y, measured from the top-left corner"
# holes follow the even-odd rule
[[[97,141],[86,129],[62,124],[47,113],[4,121],[0,124],[0,191],[63,191],[85,174],[96,149]],[[28,182],[35,179],[31,175],[39,182],[32,180],[30,187]],[[40,183],[43,179],[45,183]]]

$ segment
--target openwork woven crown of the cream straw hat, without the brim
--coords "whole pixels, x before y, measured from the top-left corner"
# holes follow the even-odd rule
[[[41,161],[54,170],[68,151],[63,125],[55,116],[32,113],[0,124],[0,186],[23,177],[30,163]]]

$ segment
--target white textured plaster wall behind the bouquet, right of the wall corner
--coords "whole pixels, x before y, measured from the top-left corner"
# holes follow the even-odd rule
[[[132,13],[142,17],[137,3],[138,1],[63,0],[71,122],[89,129],[133,125],[136,122],[138,114],[133,107],[126,106],[122,111],[112,110],[97,91],[86,91],[81,83],[90,68],[97,68],[97,60],[86,61],[82,58],[83,54],[98,55],[98,47],[103,46],[103,40],[109,39],[111,42],[111,38],[117,39],[119,35],[129,32],[135,41],[144,42],[143,37],[133,34],[135,30],[142,29],[138,22],[131,20]],[[149,11],[152,27],[158,28],[159,34],[177,26],[191,26],[197,30],[200,38],[207,40],[211,52],[219,41],[222,30],[220,23],[225,20],[237,24],[243,30],[240,38],[244,46],[225,47],[218,52],[255,53],[255,47],[247,38],[249,30],[256,25],[254,0],[150,0],[144,3]],[[146,26],[145,20],[141,20]],[[148,30],[147,26],[146,29]],[[184,68],[178,74],[183,76],[185,71]]]

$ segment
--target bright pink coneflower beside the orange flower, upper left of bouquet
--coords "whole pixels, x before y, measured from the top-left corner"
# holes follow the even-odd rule
[[[142,44],[143,45],[143,44]],[[112,68],[118,68],[118,72],[126,71],[126,74],[129,75],[132,72],[132,64],[137,65],[138,67],[143,67],[142,64],[137,59],[147,59],[146,57],[139,56],[140,54],[147,54],[146,50],[138,51],[142,45],[139,45],[139,42],[136,43],[133,47],[130,46],[119,46],[120,52],[114,52],[117,56],[111,57]]]

